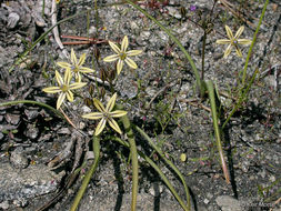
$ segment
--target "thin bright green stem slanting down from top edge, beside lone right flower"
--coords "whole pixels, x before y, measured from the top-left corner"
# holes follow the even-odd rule
[[[243,71],[243,77],[242,77],[242,87],[245,86],[245,77],[247,77],[248,63],[249,63],[249,60],[250,60],[250,57],[251,57],[251,53],[252,53],[253,46],[255,44],[255,40],[257,40],[258,33],[260,31],[262,19],[263,19],[263,17],[265,14],[265,10],[267,10],[268,3],[269,3],[269,0],[267,0],[265,3],[264,3],[264,6],[263,6],[263,9],[262,9],[262,12],[261,12],[261,17],[260,17],[258,27],[257,27],[257,29],[254,31],[254,34],[253,34],[253,40],[252,40],[252,43],[250,46],[250,49],[249,49],[249,52],[248,52],[248,56],[247,56],[247,59],[245,59],[244,71]]]

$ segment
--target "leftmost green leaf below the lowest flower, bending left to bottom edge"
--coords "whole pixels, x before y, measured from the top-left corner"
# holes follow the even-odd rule
[[[99,135],[98,137],[93,135],[92,142],[93,142],[94,160],[93,160],[93,163],[92,163],[91,168],[89,169],[89,171],[87,172],[87,174],[83,179],[83,182],[82,182],[82,184],[81,184],[81,187],[80,187],[80,189],[79,189],[79,191],[76,195],[76,199],[74,199],[74,201],[71,205],[70,211],[76,211],[77,210],[77,208],[78,208],[78,205],[79,205],[79,203],[80,203],[80,201],[81,201],[81,199],[82,199],[82,197],[86,192],[86,189],[87,189],[87,187],[88,187],[88,184],[89,184],[89,182],[90,182],[90,180],[91,180],[91,178],[92,178],[92,175],[93,175],[93,173],[94,173],[94,171],[98,167],[99,160],[100,160],[100,137]]]

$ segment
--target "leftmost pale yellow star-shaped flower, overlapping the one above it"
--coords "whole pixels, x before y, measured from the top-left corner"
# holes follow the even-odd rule
[[[63,79],[61,78],[60,73],[56,70],[56,79],[57,79],[57,82],[59,86],[44,88],[43,91],[47,93],[61,92],[58,100],[57,100],[57,109],[60,108],[60,105],[62,104],[66,97],[70,102],[72,102],[74,100],[73,93],[70,90],[79,89],[79,88],[82,88],[87,84],[87,83],[82,83],[82,82],[74,82],[74,83],[70,84],[70,81],[71,81],[70,70],[66,70]]]

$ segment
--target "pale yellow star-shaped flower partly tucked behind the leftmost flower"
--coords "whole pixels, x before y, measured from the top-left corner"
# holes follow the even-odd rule
[[[90,73],[90,72],[94,72],[94,70],[90,69],[90,68],[86,68],[86,67],[82,67],[82,64],[84,63],[84,60],[86,60],[86,53],[83,53],[79,61],[77,60],[77,56],[74,53],[74,50],[71,49],[71,63],[68,63],[68,62],[57,62],[57,64],[61,68],[64,68],[64,69],[69,69],[71,70],[71,72],[73,72],[74,74],[74,78],[78,82],[81,81],[81,74],[80,73]]]

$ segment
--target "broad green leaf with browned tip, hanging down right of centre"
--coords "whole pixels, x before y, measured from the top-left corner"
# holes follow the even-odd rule
[[[215,105],[215,100],[214,100],[213,83],[212,81],[207,81],[205,84],[207,84],[208,96],[211,103],[213,128],[214,128],[214,134],[215,134],[215,140],[217,140],[217,147],[220,154],[221,167],[222,167],[227,183],[230,183],[229,171],[228,171],[223,151],[222,151],[221,134],[220,134],[220,129],[219,129],[219,123],[218,123],[218,113],[217,113],[217,105]]]

